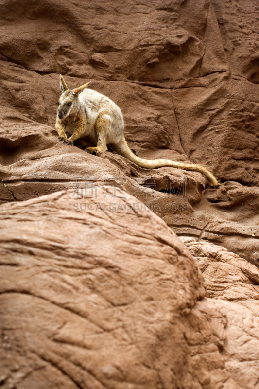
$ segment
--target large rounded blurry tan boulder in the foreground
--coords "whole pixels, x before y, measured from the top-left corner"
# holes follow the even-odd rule
[[[4,388],[238,387],[225,306],[142,206],[101,187],[0,208]]]

